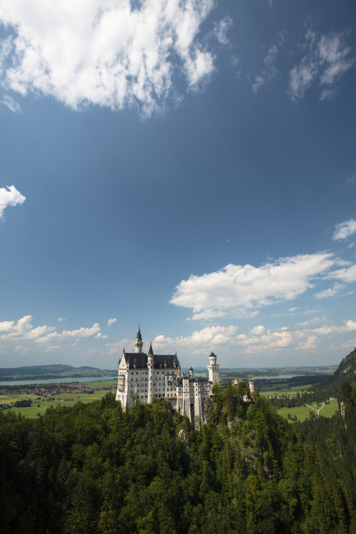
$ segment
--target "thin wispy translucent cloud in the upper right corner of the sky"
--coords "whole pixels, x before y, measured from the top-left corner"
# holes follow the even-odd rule
[[[303,98],[315,81],[320,86],[321,100],[333,98],[340,78],[355,63],[355,51],[345,43],[345,34],[320,36],[315,31],[308,30],[303,51],[300,63],[290,71],[290,98],[293,101]]]

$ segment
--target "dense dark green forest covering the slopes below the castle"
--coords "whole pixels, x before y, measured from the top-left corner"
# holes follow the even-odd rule
[[[341,381],[332,418],[293,424],[246,394],[216,384],[201,428],[111,393],[0,413],[1,533],[356,533],[355,387]]]

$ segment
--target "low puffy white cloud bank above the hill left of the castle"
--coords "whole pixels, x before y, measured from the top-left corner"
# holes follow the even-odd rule
[[[96,337],[98,339],[106,339],[100,332],[98,323],[94,323],[92,327],[80,327],[74,330],[63,330],[57,332],[56,327],[48,327],[47,325],[41,327],[33,327],[33,319],[31,315],[21,317],[17,322],[3,321],[0,322],[0,342],[16,341],[16,344],[21,342],[36,342],[44,344],[51,348],[58,348],[60,344],[76,344],[80,339]]]

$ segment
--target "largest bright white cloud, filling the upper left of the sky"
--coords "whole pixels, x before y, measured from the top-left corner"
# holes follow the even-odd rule
[[[194,88],[214,70],[200,35],[213,7],[214,0],[3,0],[0,21],[14,31],[1,43],[3,86],[71,108],[135,105],[150,115],[176,95],[174,76]],[[220,42],[230,24],[215,27]]]

